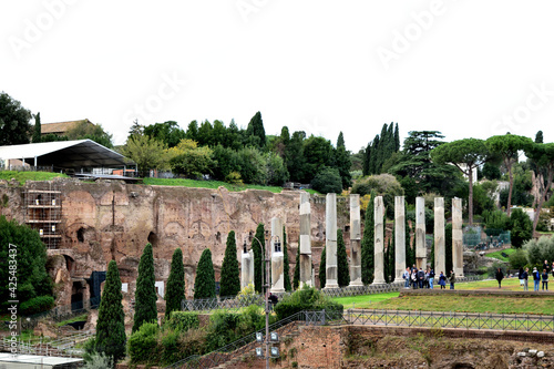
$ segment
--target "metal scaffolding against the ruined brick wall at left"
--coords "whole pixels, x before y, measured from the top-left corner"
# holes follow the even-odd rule
[[[52,182],[33,183],[24,191],[25,223],[39,232],[47,248],[61,242],[62,193]]]

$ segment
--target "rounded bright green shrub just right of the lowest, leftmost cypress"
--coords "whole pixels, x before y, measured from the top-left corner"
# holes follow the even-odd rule
[[[144,322],[129,338],[131,362],[155,362],[158,359],[157,335],[160,328],[154,322]]]

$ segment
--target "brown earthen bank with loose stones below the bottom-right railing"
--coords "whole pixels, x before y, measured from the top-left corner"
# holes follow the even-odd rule
[[[524,334],[522,334],[524,335]],[[554,368],[554,341],[533,344],[492,339],[384,336],[350,341],[343,368]],[[543,351],[538,358],[530,350]],[[522,356],[525,352],[525,356]]]

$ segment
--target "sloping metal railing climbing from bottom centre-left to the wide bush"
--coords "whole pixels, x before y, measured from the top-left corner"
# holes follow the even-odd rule
[[[337,311],[300,311],[269,326],[269,331],[278,332],[284,338],[298,329],[299,325],[326,325],[326,324],[347,324],[342,314]],[[261,342],[256,341],[256,334],[265,334],[265,328],[259,329],[246,337],[243,337],[227,346],[215,351],[199,356],[194,355],[181,361],[177,361],[164,369],[184,369],[184,368],[213,368],[233,359],[242,358],[244,355],[253,353],[255,348]],[[275,342],[278,344],[278,342]]]

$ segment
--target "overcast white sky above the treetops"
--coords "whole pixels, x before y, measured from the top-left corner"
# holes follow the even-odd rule
[[[192,120],[266,134],[339,131],[358,151],[398,122],[448,141],[554,141],[554,2],[0,2],[0,90],[43,123],[88,117],[125,142]]]

